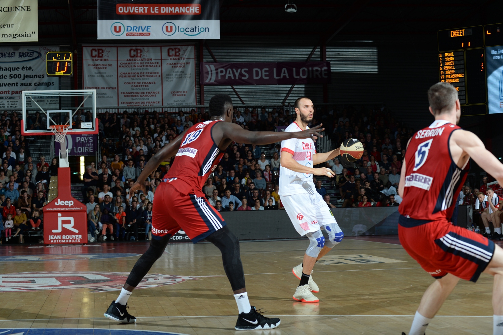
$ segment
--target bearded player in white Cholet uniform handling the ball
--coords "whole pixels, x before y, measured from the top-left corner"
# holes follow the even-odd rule
[[[313,103],[309,98],[295,100],[297,119],[285,131],[306,130],[313,119]],[[318,302],[311,292],[319,292],[311,278],[314,263],[331,248],[341,242],[343,232],[333,217],[332,212],[316,191],[313,174],[333,177],[332,170],[314,165],[339,156],[339,149],[328,153],[316,153],[312,139],[289,139],[281,142],[280,189],[281,203],[285,207],[297,232],[309,238],[309,247],[304,254],[302,264],[292,269],[300,284],[293,298],[302,302]],[[323,232],[325,236],[323,236]]]

